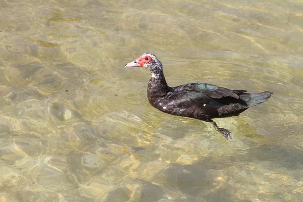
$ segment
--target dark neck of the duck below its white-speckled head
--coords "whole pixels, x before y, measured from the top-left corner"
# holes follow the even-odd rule
[[[162,97],[169,91],[169,87],[166,83],[163,70],[151,71],[151,78],[148,83],[147,96],[148,100],[152,98]]]

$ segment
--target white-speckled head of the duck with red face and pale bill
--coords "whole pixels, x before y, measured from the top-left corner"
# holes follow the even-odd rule
[[[145,53],[135,61],[128,63],[125,67],[143,67],[151,72],[163,71],[163,66],[160,60],[151,53]]]

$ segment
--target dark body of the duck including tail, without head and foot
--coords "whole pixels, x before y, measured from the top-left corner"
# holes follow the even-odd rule
[[[246,90],[230,90],[208,83],[189,83],[155,91],[154,78],[147,88],[148,102],[162,112],[200,120],[236,116],[265,102],[271,92],[246,93]],[[161,85],[161,84],[160,84]]]

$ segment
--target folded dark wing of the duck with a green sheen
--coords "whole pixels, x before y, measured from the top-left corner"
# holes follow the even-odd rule
[[[207,83],[185,84],[171,88],[167,109],[171,114],[196,119],[216,118],[226,113],[236,115],[247,106],[239,97],[244,92]]]

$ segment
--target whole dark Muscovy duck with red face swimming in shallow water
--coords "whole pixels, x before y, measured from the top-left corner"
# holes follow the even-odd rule
[[[125,67],[142,67],[151,72],[147,86],[151,106],[167,114],[209,122],[226,139],[232,139],[231,130],[220,128],[212,119],[238,116],[248,108],[264,103],[273,94],[271,91],[247,93],[246,90],[231,90],[209,83],[170,87],[162,63],[151,53],[144,53]]]

